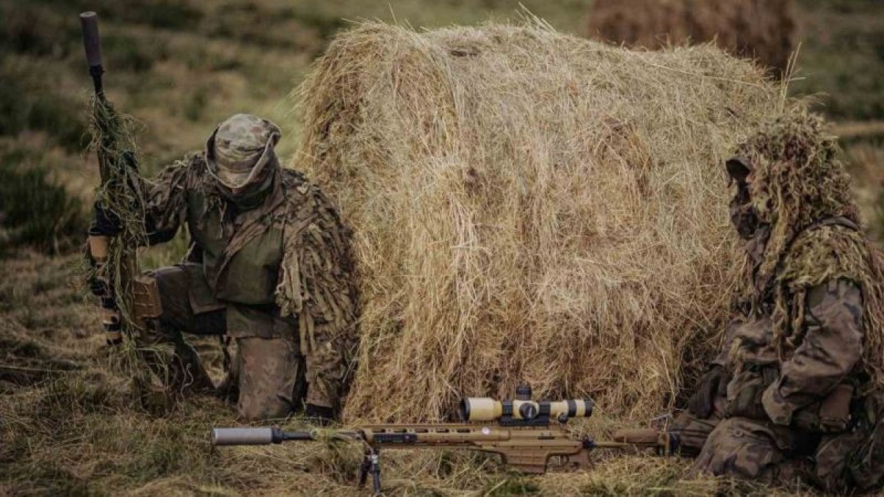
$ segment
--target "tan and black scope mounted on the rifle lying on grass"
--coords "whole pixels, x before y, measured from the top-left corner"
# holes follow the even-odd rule
[[[571,417],[591,417],[590,399],[531,401],[530,387],[520,386],[516,399],[498,401],[490,397],[465,397],[461,400],[464,421],[499,421],[501,424],[548,423],[550,419],[567,421]]]

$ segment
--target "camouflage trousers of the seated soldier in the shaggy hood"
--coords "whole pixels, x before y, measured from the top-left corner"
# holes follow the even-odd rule
[[[684,412],[672,432],[682,453],[697,455],[690,473],[774,485],[805,484],[828,492],[870,488],[884,474],[884,427],[859,424],[849,432],[802,432],[746,417],[699,419]],[[697,454],[698,453],[698,454]]]

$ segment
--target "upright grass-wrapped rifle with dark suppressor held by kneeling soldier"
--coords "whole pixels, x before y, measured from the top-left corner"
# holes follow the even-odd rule
[[[95,149],[101,173],[95,209],[102,214],[96,219],[104,220],[89,228],[89,259],[94,270],[90,287],[101,301],[105,339],[110,345],[119,345],[124,336],[133,336],[138,327],[139,312],[133,295],[138,291],[135,284],[139,273],[137,249],[146,237],[144,193],[132,130],[127,119],[114,111],[104,95],[98,15],[83,12],[80,24],[95,89],[90,102],[90,131],[91,147]]]

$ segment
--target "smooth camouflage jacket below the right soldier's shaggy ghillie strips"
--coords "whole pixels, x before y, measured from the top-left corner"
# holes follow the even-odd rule
[[[845,226],[802,233],[782,271],[795,272],[790,258],[803,245],[846,235],[850,227]],[[819,260],[813,267],[834,266]],[[758,295],[760,305],[728,326],[725,347],[715,360],[733,367],[725,415],[838,432],[846,428],[850,401],[867,380],[863,292],[843,271],[793,276],[758,285],[766,288]]]

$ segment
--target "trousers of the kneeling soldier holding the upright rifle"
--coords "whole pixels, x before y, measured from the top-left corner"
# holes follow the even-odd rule
[[[164,363],[170,386],[180,390],[214,390],[199,354],[184,333],[223,336],[227,332],[223,303],[194,305],[192,286],[205,282],[193,271],[194,264],[164,267],[150,273],[156,279],[162,314],[147,324],[141,341],[145,345],[174,347]],[[203,292],[204,293],[204,292]],[[255,326],[257,327],[257,325]],[[305,362],[293,336],[237,336],[237,356],[225,383],[238,390],[237,412],[242,419],[286,417],[301,403],[306,390]]]

